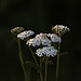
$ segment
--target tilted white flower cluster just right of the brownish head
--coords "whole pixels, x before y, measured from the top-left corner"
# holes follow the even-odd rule
[[[28,38],[28,37],[32,36],[33,33],[35,33],[35,32],[31,31],[31,30],[25,30],[25,31],[18,33],[18,35],[17,35],[17,38],[24,40],[25,38]]]

